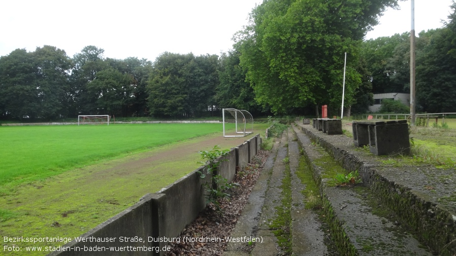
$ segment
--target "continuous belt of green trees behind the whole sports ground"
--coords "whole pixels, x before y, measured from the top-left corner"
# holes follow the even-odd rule
[[[229,52],[164,52],[154,62],[73,57],[53,46],[0,57],[0,118],[77,115],[191,118],[235,107],[255,115],[315,115],[329,105],[365,113],[373,93],[409,92],[409,33],[364,41],[398,0],[266,0],[250,13]],[[456,5],[442,28],[416,40],[417,110],[454,111]],[[345,91],[344,53],[347,53]]]

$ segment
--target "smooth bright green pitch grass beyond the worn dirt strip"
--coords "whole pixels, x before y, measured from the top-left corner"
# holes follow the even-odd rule
[[[2,126],[0,187],[220,132],[221,124]]]

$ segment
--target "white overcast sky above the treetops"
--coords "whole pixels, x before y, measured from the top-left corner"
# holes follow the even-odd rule
[[[162,52],[219,54],[262,0],[0,0],[0,56],[51,45],[73,57],[88,45],[105,57],[146,58]],[[416,0],[415,30],[441,27],[451,0]],[[366,38],[410,30],[410,0],[387,10]]]

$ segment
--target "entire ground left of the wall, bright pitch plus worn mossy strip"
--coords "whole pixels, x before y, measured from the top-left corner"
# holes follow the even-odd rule
[[[255,134],[264,134],[267,127],[267,124],[255,124]],[[210,134],[203,135],[205,133]],[[10,148],[16,147],[16,151],[21,150],[23,154],[29,154],[24,161],[29,159],[30,162],[22,165],[31,166],[31,162],[36,162],[35,164],[42,165],[40,168],[43,172],[46,172],[50,166],[49,163],[54,159],[51,157],[38,161],[41,159],[31,158],[30,156],[34,154],[27,152],[30,142],[26,141],[32,140],[33,143],[39,143],[41,147],[34,147],[34,150],[41,152],[42,155],[44,155],[43,151],[50,151],[50,148],[55,149],[52,153],[48,153],[49,155],[58,155],[60,151],[66,150],[66,145],[57,143],[56,140],[79,145],[79,147],[75,145],[71,147],[71,158],[79,155],[85,158],[86,155],[99,154],[90,162],[82,163],[81,160],[76,166],[68,165],[67,169],[60,168],[59,174],[56,171],[48,173],[47,178],[44,178],[45,176],[38,178],[31,173],[26,179],[28,181],[25,182],[20,180],[20,176],[16,176],[13,178],[16,186],[9,186],[6,189],[4,187],[3,194],[0,186],[0,233],[9,237],[79,236],[132,206],[145,194],[155,193],[198,168],[201,165],[198,163],[201,161],[198,151],[209,149],[205,148],[207,144],[205,141],[221,137],[221,133],[221,124],[0,127],[2,142],[4,134],[8,134],[5,136],[5,141],[9,141]],[[37,138],[29,138],[34,136]],[[191,136],[199,137],[186,139]],[[113,141],[116,137],[120,138],[117,139],[118,141]],[[51,139],[54,139],[54,143],[44,150],[43,145]],[[220,147],[223,150],[230,149],[245,139],[247,137],[223,138]],[[96,142],[102,140],[106,140],[102,144],[109,147],[102,147],[101,150],[91,149],[91,147],[101,147]],[[20,143],[14,145],[12,141]],[[86,147],[87,143],[91,144],[91,147]],[[168,144],[165,145],[165,143]],[[20,145],[22,147],[19,147]],[[214,144],[211,144],[210,148],[213,146]],[[113,147],[118,148],[117,152],[111,152]],[[176,149],[180,150],[177,156],[173,155]],[[7,152],[3,147],[1,150],[1,154]],[[77,152],[77,150],[91,153]],[[100,153],[104,153],[105,156]],[[13,162],[17,159],[14,156],[15,154],[10,154]],[[147,160],[150,164],[137,163],[142,160]],[[65,159],[63,158],[62,161]],[[6,173],[5,169],[2,170]],[[12,182],[9,183],[9,185],[12,184]],[[32,246],[33,244],[23,242],[16,245]],[[57,246],[62,243],[36,245]],[[19,252],[12,255],[43,254]]]

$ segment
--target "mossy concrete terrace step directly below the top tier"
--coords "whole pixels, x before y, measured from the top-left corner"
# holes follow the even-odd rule
[[[334,187],[336,161],[312,144],[300,127],[293,129],[319,183],[325,220],[343,255],[432,255],[405,225],[395,221],[396,214],[382,206],[371,190]]]

